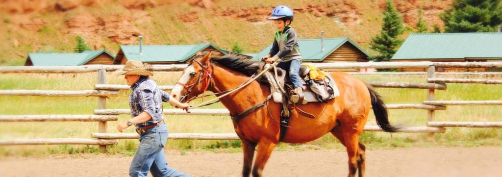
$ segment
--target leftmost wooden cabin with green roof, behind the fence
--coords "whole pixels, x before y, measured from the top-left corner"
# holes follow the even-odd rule
[[[105,50],[82,53],[30,53],[25,66],[112,65],[115,56]]]

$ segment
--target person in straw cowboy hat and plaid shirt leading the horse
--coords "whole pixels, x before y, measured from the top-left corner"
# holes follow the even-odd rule
[[[136,132],[140,134],[140,145],[131,162],[129,175],[147,176],[150,171],[153,176],[189,176],[167,166],[164,146],[168,130],[164,122],[162,101],[183,109],[189,105],[169,99],[169,94],[160,90],[155,81],[149,78],[153,73],[147,67],[151,68],[148,64],[130,60],[124,68],[114,72],[115,75],[125,75],[127,85],[133,90],[129,96],[132,118],[120,122],[117,130],[122,132],[134,124]]]

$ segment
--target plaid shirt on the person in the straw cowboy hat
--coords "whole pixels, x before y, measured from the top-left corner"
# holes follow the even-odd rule
[[[129,106],[131,107],[131,117],[147,112],[152,118],[146,122],[136,124],[137,127],[153,125],[164,119],[162,112],[162,101],[169,100],[169,94],[160,90],[151,79],[140,78],[131,86],[133,92],[129,96]]]

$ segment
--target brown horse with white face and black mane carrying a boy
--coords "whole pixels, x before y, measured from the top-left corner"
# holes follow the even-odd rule
[[[236,56],[225,55],[211,58],[211,53],[192,60],[174,85],[171,97],[189,102],[206,90],[218,95],[242,86],[259,66]],[[365,146],[359,142],[370,109],[377,124],[386,132],[400,129],[389,123],[387,108],[369,85],[344,72],[329,73],[336,82],[340,95],[327,103],[312,102],[296,105],[311,113],[307,118],[293,109],[289,128],[281,139],[286,143],[305,143],[330,132],[347,149],[348,176],[364,176]],[[228,109],[235,133],[241,139],[243,151],[242,176],[262,176],[263,169],[274,147],[280,141],[281,103],[270,101],[271,90],[266,84],[249,81],[235,92],[219,98]],[[248,114],[242,115],[243,112]],[[234,119],[242,115],[240,119]],[[255,163],[253,157],[257,148]],[[252,168],[253,165],[253,168]]]

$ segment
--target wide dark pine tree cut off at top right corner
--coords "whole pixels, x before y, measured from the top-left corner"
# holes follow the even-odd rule
[[[502,24],[502,5],[500,0],[454,0],[439,18],[445,33],[495,32]]]

